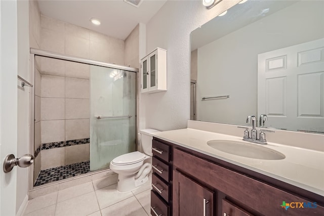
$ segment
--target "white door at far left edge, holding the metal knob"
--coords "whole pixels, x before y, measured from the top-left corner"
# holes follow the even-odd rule
[[[17,168],[5,174],[3,161],[17,156],[17,1],[0,1],[0,215],[16,215]]]

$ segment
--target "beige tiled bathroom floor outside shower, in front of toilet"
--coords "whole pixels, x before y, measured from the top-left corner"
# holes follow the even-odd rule
[[[147,216],[151,181],[126,193],[105,177],[29,200],[24,216]]]

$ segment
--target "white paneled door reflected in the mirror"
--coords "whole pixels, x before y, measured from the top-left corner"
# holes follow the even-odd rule
[[[266,127],[324,132],[324,38],[258,55]]]

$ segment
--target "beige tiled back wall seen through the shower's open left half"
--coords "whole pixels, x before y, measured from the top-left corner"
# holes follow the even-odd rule
[[[48,143],[89,138],[89,65],[35,60],[41,73],[42,170],[89,160],[89,142],[44,149]]]

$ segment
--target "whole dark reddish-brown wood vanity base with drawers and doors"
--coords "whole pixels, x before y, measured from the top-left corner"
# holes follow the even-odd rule
[[[157,138],[152,147],[154,216],[324,215],[318,194]]]

